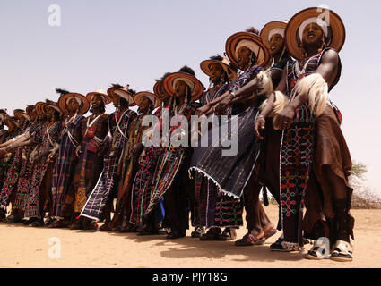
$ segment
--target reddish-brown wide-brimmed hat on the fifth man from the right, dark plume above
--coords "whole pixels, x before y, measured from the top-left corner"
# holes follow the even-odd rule
[[[173,97],[175,94],[175,83],[178,80],[183,80],[190,88],[192,100],[196,100],[203,94],[203,84],[200,80],[197,80],[193,75],[186,72],[173,72],[163,80],[164,88],[169,96]]]

